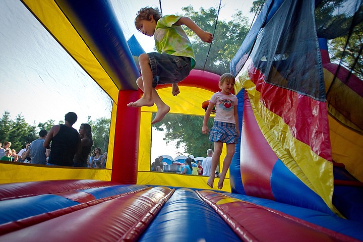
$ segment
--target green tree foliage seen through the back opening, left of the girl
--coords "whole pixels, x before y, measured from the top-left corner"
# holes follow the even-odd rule
[[[153,118],[155,113],[153,113]],[[209,142],[209,135],[202,134],[203,116],[168,113],[161,122],[153,125],[157,131],[164,131],[163,140],[168,144],[176,141],[176,148],[185,145],[185,155],[206,156],[214,144]],[[209,118],[208,127],[212,128],[213,118]]]

